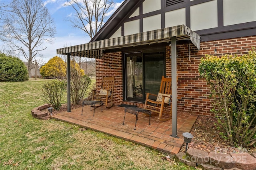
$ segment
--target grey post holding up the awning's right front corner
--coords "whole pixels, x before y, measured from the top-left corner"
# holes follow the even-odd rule
[[[176,59],[176,37],[171,38],[172,48],[172,137],[177,137],[177,59]]]

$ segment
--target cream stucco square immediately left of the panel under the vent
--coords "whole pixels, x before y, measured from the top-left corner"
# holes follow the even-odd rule
[[[161,14],[143,18],[143,32],[161,29]]]

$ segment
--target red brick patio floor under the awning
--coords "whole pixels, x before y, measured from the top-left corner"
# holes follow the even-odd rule
[[[71,112],[62,112],[51,116],[52,119],[65,121],[81,127],[92,129],[94,131],[106,133],[127,141],[138,143],[153,149],[157,149],[170,154],[177,154],[184,143],[182,133],[190,132],[198,115],[191,113],[177,113],[177,135],[179,138],[170,137],[172,134],[172,120],[159,121],[157,116],[150,119],[139,113],[136,130],[134,125],[136,115],[126,112],[124,120],[125,107],[113,106],[110,109],[103,106],[90,111],[90,106],[84,106],[83,115],[82,107],[72,109]]]

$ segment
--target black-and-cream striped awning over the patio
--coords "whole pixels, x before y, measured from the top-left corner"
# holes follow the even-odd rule
[[[200,50],[200,35],[192,31],[186,25],[177,25],[153,31],[146,31],[122,37],[103,39],[81,45],[74,45],[57,49],[57,54],[72,55],[88,58],[101,58],[102,51],[105,49],[116,49],[122,47],[133,47],[153,43],[163,43],[170,41],[171,37],[176,40],[190,39],[191,42]]]

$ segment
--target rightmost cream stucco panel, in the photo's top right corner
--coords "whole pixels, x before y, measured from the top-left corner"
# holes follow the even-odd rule
[[[256,0],[223,0],[224,26],[251,21],[256,21]]]

